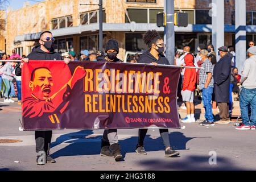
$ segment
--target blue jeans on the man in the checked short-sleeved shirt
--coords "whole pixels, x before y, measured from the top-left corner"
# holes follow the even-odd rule
[[[213,122],[214,118],[212,115],[212,93],[213,93],[213,87],[208,86],[207,89],[203,88],[203,104],[205,109],[204,117],[208,122]]]

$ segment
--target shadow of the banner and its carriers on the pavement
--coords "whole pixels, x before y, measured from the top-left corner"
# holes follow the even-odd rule
[[[90,137],[88,138],[88,136]],[[170,133],[171,146],[175,150],[189,150],[186,148],[186,144],[189,140],[197,137],[185,137],[181,132]],[[59,158],[60,156],[76,156],[76,155],[98,155],[101,149],[101,136],[93,136],[92,130],[81,130],[76,133],[69,133],[61,135],[56,139],[55,142],[51,144],[52,147],[56,147],[60,143],[70,143],[68,146],[61,148],[60,150],[54,152],[51,156],[53,158]],[[199,137],[204,138],[204,137]],[[210,138],[210,137],[209,137]],[[75,139],[75,140],[74,140]],[[125,155],[127,152],[135,152],[135,147],[138,142],[138,137],[130,137],[127,139],[119,140],[121,144],[122,154]],[[144,140],[145,150],[150,151],[160,151],[164,150],[164,145],[162,138],[158,137],[152,139],[150,135],[146,135]]]

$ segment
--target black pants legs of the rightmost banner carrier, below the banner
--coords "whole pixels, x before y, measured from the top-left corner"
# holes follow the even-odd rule
[[[169,140],[169,131],[168,129],[159,129],[159,133],[163,139],[164,146],[170,147],[170,140]],[[139,129],[139,138],[138,138],[138,144],[137,147],[143,146],[144,144],[144,139],[147,134],[147,129]]]

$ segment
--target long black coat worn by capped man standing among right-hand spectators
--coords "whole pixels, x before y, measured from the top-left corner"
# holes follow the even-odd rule
[[[216,102],[229,103],[231,59],[227,54],[217,62],[213,69],[214,95]]]

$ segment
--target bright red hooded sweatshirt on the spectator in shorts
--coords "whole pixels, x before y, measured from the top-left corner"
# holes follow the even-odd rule
[[[184,58],[186,67],[195,67],[193,60],[194,60],[193,55],[188,53]],[[196,69],[186,68],[184,72],[182,90],[183,91],[190,90],[193,92],[195,89],[196,89]]]

